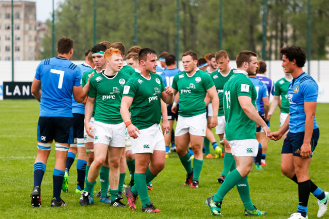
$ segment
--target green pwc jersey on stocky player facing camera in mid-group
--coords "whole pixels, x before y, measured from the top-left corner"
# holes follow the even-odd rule
[[[178,114],[191,117],[205,113],[204,98],[212,86],[214,82],[210,75],[199,69],[192,76],[185,71],[176,74],[172,87],[179,92]]]

